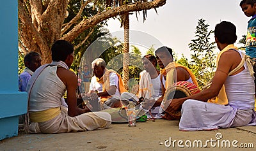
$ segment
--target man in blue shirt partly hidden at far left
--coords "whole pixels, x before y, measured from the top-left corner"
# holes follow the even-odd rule
[[[24,71],[19,75],[19,91],[26,91],[28,81],[36,71],[37,68],[41,66],[41,57],[40,54],[37,52],[29,52],[24,57],[24,64],[26,68]]]

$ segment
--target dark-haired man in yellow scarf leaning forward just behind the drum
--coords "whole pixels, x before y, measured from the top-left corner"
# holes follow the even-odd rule
[[[180,81],[186,81],[191,82],[198,87],[198,83],[196,81],[195,75],[186,67],[181,66],[180,64],[176,64],[173,61],[173,54],[172,49],[168,47],[161,47],[156,50],[156,59],[157,63],[159,65],[159,68],[161,68],[161,83],[163,85],[163,94],[162,96],[156,101],[155,106],[160,106],[160,112],[163,113],[163,111],[166,109],[166,104],[170,102],[164,102],[164,94],[166,90],[168,90],[168,87],[172,87],[173,83],[180,82]],[[167,116],[167,115],[166,115]],[[172,119],[171,117],[163,117],[164,119]]]

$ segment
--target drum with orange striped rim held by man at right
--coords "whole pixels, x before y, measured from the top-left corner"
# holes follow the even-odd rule
[[[166,91],[166,94],[164,94],[164,101],[166,102],[170,99],[178,99],[182,97],[191,96],[198,92],[200,92],[200,89],[196,87],[195,84],[191,82],[180,81],[180,82],[174,83],[173,87],[168,88],[168,90]],[[167,117],[167,119],[169,120],[180,119],[181,117],[180,110],[181,110],[181,106],[179,111],[174,111],[172,113],[169,111],[168,113],[165,113],[164,117]]]

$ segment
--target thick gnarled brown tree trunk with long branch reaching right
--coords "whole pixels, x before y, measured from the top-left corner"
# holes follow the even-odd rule
[[[18,0],[19,1],[19,45],[24,53],[35,51],[42,55],[42,64],[51,62],[51,45],[63,39],[74,41],[84,30],[111,17],[131,11],[150,10],[163,6],[166,0],[125,4],[97,13],[91,18],[75,22],[77,17],[62,29],[65,13],[70,0]],[[90,0],[84,1],[88,3]],[[90,1],[92,2],[92,1]],[[82,7],[84,7],[84,5]],[[81,8],[83,10],[83,8]],[[79,11],[80,12],[80,11]],[[79,15],[77,15],[79,16]],[[70,28],[69,28],[70,27]],[[64,34],[64,31],[69,31]],[[71,29],[72,28],[72,29]],[[61,32],[62,30],[62,32]],[[129,50],[128,50],[129,52]]]

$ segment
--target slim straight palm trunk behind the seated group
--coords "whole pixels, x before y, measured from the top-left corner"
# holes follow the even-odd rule
[[[129,13],[123,15],[124,18],[124,63],[123,63],[123,81],[125,90],[128,90],[128,80],[129,80],[129,37],[130,37],[130,21]]]

